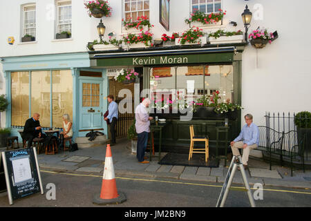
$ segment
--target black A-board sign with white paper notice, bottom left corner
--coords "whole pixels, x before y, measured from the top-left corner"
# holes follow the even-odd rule
[[[35,147],[5,151],[1,157],[10,204],[33,193],[43,194]]]

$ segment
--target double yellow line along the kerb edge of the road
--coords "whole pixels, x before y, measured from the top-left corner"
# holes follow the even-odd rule
[[[54,174],[60,174],[60,175],[75,175],[75,176],[82,176],[82,177],[102,177],[102,175],[87,175],[87,174],[74,174],[74,173],[58,173],[53,171],[41,171],[44,173],[54,173]],[[211,185],[211,184],[196,184],[191,182],[174,182],[174,181],[166,181],[166,180],[147,180],[147,179],[139,179],[139,178],[129,178],[129,177],[115,177],[115,179],[120,180],[136,180],[136,181],[146,181],[146,182],[166,182],[171,184],[187,184],[187,185],[194,185],[194,186],[209,186],[209,187],[223,187],[219,185]],[[241,186],[232,186],[234,189],[245,189],[245,187]],[[254,190],[257,190],[256,188],[251,188]],[[274,191],[274,192],[283,192],[283,193],[300,193],[300,194],[308,194],[311,195],[311,193],[308,192],[300,192],[300,191],[287,191],[287,190],[281,190],[281,189],[265,189],[263,188],[263,191]]]

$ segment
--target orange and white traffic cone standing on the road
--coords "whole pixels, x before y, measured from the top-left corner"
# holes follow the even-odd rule
[[[124,193],[117,193],[115,182],[115,171],[113,169],[113,158],[110,144],[107,144],[104,175],[102,177],[102,191],[100,195],[95,195],[94,204],[118,204],[126,200]]]

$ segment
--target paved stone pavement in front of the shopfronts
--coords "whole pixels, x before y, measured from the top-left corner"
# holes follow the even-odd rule
[[[130,142],[124,139],[117,140],[117,144],[111,146],[113,167],[115,177],[126,175],[142,177],[166,177],[176,180],[187,180],[193,182],[215,182],[223,184],[228,171],[227,162],[220,160],[218,168],[198,166],[170,166],[158,164],[158,153],[152,157],[149,164],[140,164],[136,155],[131,153]],[[167,153],[161,153],[161,157]],[[60,151],[55,155],[38,155],[40,170],[71,171],[75,173],[87,173],[102,175],[106,157],[106,145],[79,148],[78,151]],[[248,169],[246,170],[247,180],[251,187],[255,183],[267,186],[283,186],[292,188],[311,189],[311,170],[294,171],[290,175],[290,168],[285,166],[272,166],[260,158],[249,156]],[[234,184],[244,184],[240,171],[234,175]]]

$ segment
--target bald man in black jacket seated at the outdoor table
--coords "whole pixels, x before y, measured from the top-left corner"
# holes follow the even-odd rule
[[[26,120],[23,127],[23,139],[28,141],[28,147],[32,146],[32,140],[36,137],[42,137],[39,117],[39,113],[34,113],[31,118]]]

